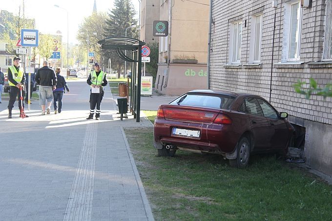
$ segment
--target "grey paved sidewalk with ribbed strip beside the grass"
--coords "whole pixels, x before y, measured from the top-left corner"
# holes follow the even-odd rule
[[[57,115],[42,116],[35,101],[29,118],[19,118],[15,107],[8,119],[8,101],[0,104],[0,220],[153,220],[123,130],[152,123],[131,115],[120,121],[110,91],[101,120],[87,121],[86,96],[72,87]],[[169,99],[142,98],[155,110]]]

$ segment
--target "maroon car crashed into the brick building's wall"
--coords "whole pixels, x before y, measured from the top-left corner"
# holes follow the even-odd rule
[[[154,147],[160,156],[177,149],[221,154],[246,167],[251,153],[287,152],[294,133],[287,117],[257,95],[193,90],[159,106]]]

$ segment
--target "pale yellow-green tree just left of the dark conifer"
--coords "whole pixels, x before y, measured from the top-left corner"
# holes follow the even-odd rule
[[[103,55],[97,42],[104,38],[104,28],[107,14],[104,12],[93,12],[91,16],[84,18],[82,24],[79,27],[77,34],[77,40],[80,42],[80,50],[82,53],[82,61],[87,60],[87,50],[93,49],[95,52],[94,60],[100,62],[103,66]],[[96,33],[94,35],[93,33]],[[87,35],[89,35],[89,48],[87,48]]]

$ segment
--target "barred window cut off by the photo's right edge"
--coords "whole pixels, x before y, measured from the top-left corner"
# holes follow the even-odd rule
[[[332,60],[332,0],[326,0],[323,60]]]

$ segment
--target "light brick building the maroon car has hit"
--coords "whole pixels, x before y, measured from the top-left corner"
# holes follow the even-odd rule
[[[332,98],[306,100],[293,87],[332,82],[332,0],[217,0],[211,18],[209,88],[288,112],[306,163],[332,176]]]

